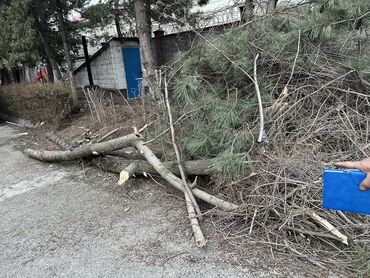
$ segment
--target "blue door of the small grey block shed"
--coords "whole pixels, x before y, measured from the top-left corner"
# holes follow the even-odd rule
[[[125,65],[127,98],[137,98],[141,94],[141,71],[140,49],[122,48],[123,64]]]

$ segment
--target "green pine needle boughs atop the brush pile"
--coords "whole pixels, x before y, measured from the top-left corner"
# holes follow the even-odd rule
[[[194,113],[178,133],[184,157],[215,158],[213,173],[221,181],[242,176],[250,169],[249,154],[258,130],[249,128],[256,126],[259,116],[254,83],[243,71],[253,76],[257,54],[264,107],[281,94],[294,64],[294,79],[306,79],[321,72],[320,65],[333,57],[329,59],[341,65],[338,72],[345,65],[344,69],[354,68],[369,80],[369,43],[362,38],[358,51],[355,25],[362,16],[361,28],[367,27],[370,3],[356,0],[354,8],[356,5],[348,1],[313,2],[296,8],[297,16],[274,14],[253,27],[234,28],[208,42],[199,42],[179,55],[171,82],[175,111],[177,117]],[[298,41],[300,52],[296,56]],[[278,82],[271,78],[279,74]]]

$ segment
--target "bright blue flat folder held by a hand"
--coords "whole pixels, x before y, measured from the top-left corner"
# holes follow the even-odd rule
[[[358,189],[365,177],[359,170],[324,169],[322,207],[370,214],[370,190]]]

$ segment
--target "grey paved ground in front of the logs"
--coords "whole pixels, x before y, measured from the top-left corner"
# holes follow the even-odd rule
[[[30,144],[53,148],[40,133],[0,126],[2,277],[340,277],[254,243],[241,252],[210,216],[199,250],[178,192],[159,179],[122,187],[83,163],[32,160],[21,151]]]

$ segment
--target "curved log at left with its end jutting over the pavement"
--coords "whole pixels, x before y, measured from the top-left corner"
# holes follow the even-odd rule
[[[84,145],[70,151],[36,151],[32,149],[27,149],[25,152],[32,158],[41,161],[47,162],[68,161],[79,158],[91,157],[92,155],[99,155],[111,150],[126,148],[131,146],[133,144],[133,141],[138,139],[140,139],[140,135],[129,134],[102,143]]]

